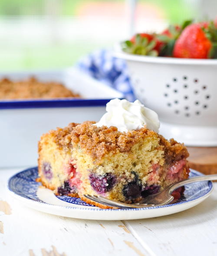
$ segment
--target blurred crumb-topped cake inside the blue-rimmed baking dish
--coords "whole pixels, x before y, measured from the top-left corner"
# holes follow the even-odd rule
[[[30,98],[80,98],[57,82],[41,82],[35,77],[27,80],[11,81],[7,78],[0,80],[0,99],[30,99]]]

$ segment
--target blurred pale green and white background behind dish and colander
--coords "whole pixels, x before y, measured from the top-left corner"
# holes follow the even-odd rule
[[[137,1],[135,31],[195,17],[195,2]],[[191,4],[189,4],[191,2]],[[0,0],[0,69],[68,67],[129,36],[130,0]]]

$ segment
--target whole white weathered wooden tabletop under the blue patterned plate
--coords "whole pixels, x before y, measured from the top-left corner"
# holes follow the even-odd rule
[[[69,219],[20,205],[0,169],[0,256],[216,256],[217,183],[210,197],[170,216],[130,221]]]

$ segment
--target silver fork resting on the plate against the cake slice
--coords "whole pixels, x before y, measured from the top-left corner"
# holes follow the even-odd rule
[[[200,182],[200,181],[210,181],[210,180],[217,180],[217,174],[212,175],[203,175],[198,177],[193,177],[189,179],[184,179],[179,182],[175,182],[169,185],[166,189],[158,192],[154,195],[148,195],[147,197],[141,199],[139,202],[133,204],[126,204],[123,202],[114,201],[112,199],[107,199],[101,195],[84,195],[86,198],[98,202],[102,205],[108,205],[117,208],[144,208],[144,207],[151,207],[151,206],[160,206],[166,205],[173,201],[174,197],[171,193],[184,185],[193,183],[193,182]]]

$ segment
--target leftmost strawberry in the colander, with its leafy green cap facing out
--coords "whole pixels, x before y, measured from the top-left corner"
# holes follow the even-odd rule
[[[125,41],[122,48],[131,54],[158,56],[162,44],[155,34],[140,33]]]

